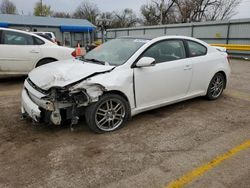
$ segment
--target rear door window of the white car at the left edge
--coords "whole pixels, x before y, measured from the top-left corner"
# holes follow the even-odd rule
[[[14,31],[3,31],[3,44],[7,45],[33,45],[32,36]]]

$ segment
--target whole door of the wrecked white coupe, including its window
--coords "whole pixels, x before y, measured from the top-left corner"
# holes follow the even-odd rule
[[[182,40],[153,44],[141,57],[152,57],[156,64],[134,68],[135,100],[138,108],[174,101],[186,96],[192,78],[192,63],[186,59]]]

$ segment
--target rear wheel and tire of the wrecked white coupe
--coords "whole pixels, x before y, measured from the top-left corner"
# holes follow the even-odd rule
[[[225,76],[220,72],[216,73],[209,83],[206,95],[207,99],[209,100],[218,99],[222,95],[225,85],[226,85]]]

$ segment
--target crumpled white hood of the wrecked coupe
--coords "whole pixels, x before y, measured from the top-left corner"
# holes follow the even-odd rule
[[[64,87],[95,73],[113,69],[114,66],[86,63],[76,59],[58,61],[35,68],[29,73],[29,79],[39,88]]]

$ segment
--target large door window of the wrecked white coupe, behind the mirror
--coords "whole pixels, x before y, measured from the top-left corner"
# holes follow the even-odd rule
[[[186,58],[185,47],[181,40],[165,40],[149,47],[142,57],[152,57],[156,63]]]

